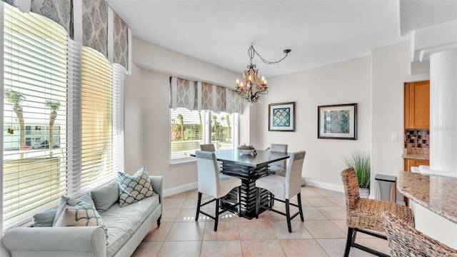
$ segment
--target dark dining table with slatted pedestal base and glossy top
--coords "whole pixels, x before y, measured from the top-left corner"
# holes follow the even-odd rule
[[[216,159],[222,163],[222,173],[241,178],[241,216],[248,219],[256,216],[256,180],[268,176],[270,163],[282,161],[291,156],[291,153],[263,150],[243,154],[238,149],[218,150],[214,153]],[[237,199],[238,193],[233,189],[222,198],[221,207],[229,208],[233,203],[237,203]],[[260,190],[260,201],[261,205],[273,206],[273,199],[263,188]],[[236,207],[232,211],[235,212]],[[262,211],[265,210],[261,208]]]

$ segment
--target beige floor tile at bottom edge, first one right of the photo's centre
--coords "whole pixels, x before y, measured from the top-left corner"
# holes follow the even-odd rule
[[[277,240],[242,240],[243,256],[286,256]]]

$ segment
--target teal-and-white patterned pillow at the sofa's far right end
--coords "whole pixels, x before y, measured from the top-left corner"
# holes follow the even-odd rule
[[[146,168],[140,168],[134,176],[125,173],[118,173],[119,178],[119,206],[128,206],[143,198],[153,196],[151,178],[149,178]]]

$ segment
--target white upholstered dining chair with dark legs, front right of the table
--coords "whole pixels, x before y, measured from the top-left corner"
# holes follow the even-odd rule
[[[268,175],[256,180],[256,218],[258,218],[260,208],[286,216],[289,233],[292,233],[291,219],[300,214],[301,221],[304,221],[303,209],[301,208],[301,168],[303,168],[305,154],[306,151],[291,154],[286,168],[286,176]],[[286,213],[268,206],[269,201],[266,205],[261,204],[260,188],[270,192],[272,199],[286,203]],[[289,201],[293,196],[297,196],[298,205]],[[290,206],[298,207],[298,211],[291,215]]]

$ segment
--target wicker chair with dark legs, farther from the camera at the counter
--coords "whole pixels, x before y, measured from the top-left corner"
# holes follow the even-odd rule
[[[353,168],[346,168],[344,171],[341,171],[341,179],[343,180],[344,193],[346,194],[346,226],[348,226],[348,237],[344,256],[349,255],[351,246],[376,256],[388,256],[355,243],[356,234],[357,232],[361,232],[370,236],[387,239],[386,236],[373,232],[385,232],[382,213],[384,211],[396,213],[396,216],[403,218],[406,223],[414,226],[411,209],[388,201],[360,198],[356,172]]]

